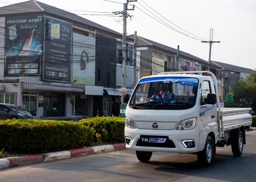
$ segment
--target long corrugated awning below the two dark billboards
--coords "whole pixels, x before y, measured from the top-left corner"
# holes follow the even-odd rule
[[[34,83],[22,83],[22,89],[24,90],[42,90],[42,91],[56,91],[56,92],[80,92],[84,93],[84,88],[76,88],[74,86],[53,86]]]

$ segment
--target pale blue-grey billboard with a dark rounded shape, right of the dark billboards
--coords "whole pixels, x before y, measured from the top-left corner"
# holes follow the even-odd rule
[[[95,85],[95,41],[94,37],[73,33],[72,82]]]

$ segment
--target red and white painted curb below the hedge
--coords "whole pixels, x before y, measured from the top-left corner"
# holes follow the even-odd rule
[[[26,155],[21,157],[8,157],[0,159],[0,169],[8,167],[17,167],[21,165],[30,165],[46,161],[54,161],[58,159],[67,159],[84,155],[92,155],[109,151],[123,150],[125,143],[117,143],[113,145],[101,145],[95,147],[84,147],[82,149],[73,149],[70,151],[59,151],[54,153],[44,153],[39,155]]]

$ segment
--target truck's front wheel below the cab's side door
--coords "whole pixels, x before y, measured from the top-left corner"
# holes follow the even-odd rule
[[[214,154],[214,145],[212,142],[212,137],[208,136],[204,145],[204,150],[197,154],[198,163],[205,167],[212,163]]]

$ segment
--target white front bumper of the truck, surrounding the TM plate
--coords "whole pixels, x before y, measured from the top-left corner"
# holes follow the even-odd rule
[[[150,147],[138,146],[141,136],[163,136],[168,137],[174,144],[171,147]],[[192,130],[149,130],[139,128],[125,127],[125,138],[131,139],[129,144],[126,141],[126,149],[134,151],[151,151],[151,152],[170,152],[170,153],[196,153],[199,147],[199,131],[194,128]],[[191,148],[185,147],[182,141],[194,141]],[[140,140],[141,141],[141,140]]]

